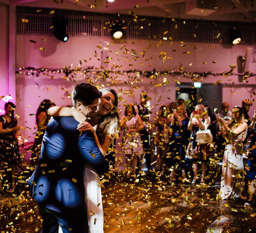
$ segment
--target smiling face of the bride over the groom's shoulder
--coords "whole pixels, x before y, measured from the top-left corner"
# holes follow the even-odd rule
[[[102,94],[99,103],[98,114],[102,116],[107,115],[112,111],[114,107],[115,96],[111,92],[106,91]]]

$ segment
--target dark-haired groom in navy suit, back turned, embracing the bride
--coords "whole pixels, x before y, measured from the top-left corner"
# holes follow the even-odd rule
[[[97,112],[102,93],[90,84],[76,85],[72,91],[73,107],[88,119]],[[83,169],[90,164],[99,174],[109,169],[96,145],[93,134],[81,135],[73,117],[54,117],[49,121],[42,141],[41,157],[29,180],[33,186],[42,219],[43,233],[88,232],[84,202]]]

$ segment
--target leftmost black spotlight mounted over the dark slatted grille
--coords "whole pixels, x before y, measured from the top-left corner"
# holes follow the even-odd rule
[[[53,20],[53,35],[60,41],[66,42],[68,40],[68,34],[66,28],[68,25],[68,19],[65,17],[57,16]]]

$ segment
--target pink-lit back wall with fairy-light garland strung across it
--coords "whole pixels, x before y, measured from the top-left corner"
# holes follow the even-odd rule
[[[45,39],[45,41],[41,39]],[[36,43],[31,43],[29,42],[30,40],[34,40]],[[111,60],[108,60],[108,68],[118,66],[117,68],[113,68],[116,71],[132,69],[149,71],[153,69],[164,71],[166,69],[167,71],[172,71],[177,70],[182,65],[189,72],[212,71],[220,73],[230,70],[229,65],[237,64],[237,57],[245,56],[246,50],[246,46],[223,47],[216,45],[214,47],[213,44],[203,43],[196,45],[186,43],[186,46],[182,47],[179,42],[174,42],[173,45],[170,45],[170,42],[165,41],[160,46],[157,46],[158,41],[142,40],[127,40],[114,44],[111,43],[110,38],[70,37],[66,43],[63,43],[50,36],[17,35],[16,41],[16,64],[18,67],[44,67],[48,69],[61,69],[71,64],[73,64],[74,68],[79,65],[79,60],[82,62],[81,67],[94,66],[94,69],[100,69],[104,41],[110,42],[108,56],[111,57]],[[102,48],[100,49],[98,45]],[[40,47],[45,48],[45,51],[40,50]],[[253,49],[255,50],[255,48]],[[185,53],[187,51],[191,52],[191,54]],[[138,57],[131,53],[136,54]],[[144,59],[140,53],[145,54]],[[166,59],[163,59],[163,56],[166,56]],[[216,63],[213,63],[213,61],[216,61]],[[248,67],[251,72],[256,73],[255,63],[250,62]],[[235,69],[234,73],[237,72],[237,69]],[[50,99],[57,105],[62,106],[71,104],[71,101],[67,98],[67,94],[71,93],[75,83],[63,79],[63,76],[65,76],[63,73],[55,73],[53,79],[50,78],[52,74],[47,72],[45,74],[48,74],[49,77],[42,73],[40,73],[39,77],[36,77],[36,75],[32,76],[31,74],[24,75],[23,72],[22,74],[16,75],[16,95],[17,100],[19,100],[17,103],[17,113],[20,116],[20,125],[27,127],[26,130],[22,131],[24,136],[33,136],[32,133],[35,132],[35,116],[30,115],[36,112],[37,107],[43,99]],[[133,82],[133,85],[127,85],[124,81],[129,81],[131,75],[136,77],[135,72],[129,72],[129,75],[111,75],[116,77],[118,81],[116,85],[113,86],[108,80],[104,81],[101,78],[95,84],[98,86],[109,86],[118,93],[122,93],[122,97],[126,102],[121,102],[121,110],[124,110],[123,104],[130,102],[138,103],[139,94],[143,90],[148,92],[148,95],[152,97],[151,105],[155,106],[153,111],[158,111],[160,104],[169,104],[175,101],[176,86],[179,86],[179,82],[194,82],[183,76],[173,77],[172,75],[167,75],[159,76],[157,79],[149,79],[141,75],[136,79],[137,81]],[[170,83],[155,88],[155,85],[163,84],[164,77]],[[95,79],[93,74],[89,78],[92,80]],[[83,74],[81,75],[78,72],[74,80],[76,83],[80,83],[87,82],[87,79],[88,76],[84,77]],[[142,79],[143,81],[141,81]],[[240,83],[238,77],[235,75],[227,78],[224,76],[209,76],[205,78],[203,83],[213,84],[217,81],[223,85],[223,101],[229,102],[231,107],[240,105],[243,99],[254,99],[252,91],[255,91],[256,87],[255,78],[248,79],[248,83]],[[212,88],[214,89],[215,86],[212,85]],[[129,94],[125,94],[125,91],[128,90],[132,93],[130,97]],[[203,101],[213,101],[210,92],[208,98]],[[254,108],[255,104],[249,112],[250,116],[252,116]]]

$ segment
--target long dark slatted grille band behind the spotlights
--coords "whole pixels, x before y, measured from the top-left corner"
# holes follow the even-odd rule
[[[75,10],[36,7],[16,8],[16,33],[22,35],[52,35],[51,29],[54,15],[64,15],[68,19],[67,32],[75,37],[111,37],[109,24],[116,14],[85,12]],[[230,44],[231,25],[234,22],[206,21],[191,19],[171,19],[160,17],[120,15],[127,29],[124,39],[162,40],[171,37],[173,41],[192,43]],[[28,23],[22,22],[27,19]],[[256,24],[239,22],[236,25],[242,34],[242,45],[256,45]],[[105,29],[104,29],[105,28]],[[167,33],[166,33],[167,32]]]

